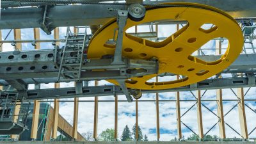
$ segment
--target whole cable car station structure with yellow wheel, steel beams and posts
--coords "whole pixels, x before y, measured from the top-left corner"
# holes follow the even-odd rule
[[[24,106],[33,101],[31,138],[36,139],[40,100],[54,99],[51,132],[54,140],[60,99],[74,98],[72,138],[77,140],[79,97],[95,97],[93,138],[97,140],[98,97],[113,95],[117,139],[118,95],[125,95],[127,102],[136,103],[138,136],[138,102],[143,101],[140,97],[143,93],[156,93],[153,101],[159,140],[159,93],[175,92],[180,140],[180,125],[188,127],[180,119],[180,92],[196,91],[193,106],[197,109],[197,135],[203,140],[211,129],[203,131],[201,107],[207,106],[201,104],[204,96],[201,91],[216,90],[215,125],[219,125],[220,139],[224,140],[225,126],[231,129],[232,126],[224,120],[227,114],[223,113],[221,89],[237,88],[237,92],[232,92],[237,97],[241,132],[233,130],[248,140],[256,129],[248,131],[244,112],[244,107],[249,108],[244,104],[247,93],[244,88],[249,91],[256,83],[255,20],[253,0],[2,0],[0,29],[10,29],[8,35],[14,33],[14,39],[7,40],[8,35],[2,37],[0,33],[0,51],[6,43],[12,44],[15,51],[0,52],[0,134],[12,134],[17,139],[17,135],[28,129],[29,111]],[[204,24],[211,27],[204,28]],[[169,37],[159,37],[158,25],[175,25],[177,31]],[[140,33],[138,26],[148,26],[151,30]],[[59,27],[67,27],[63,39]],[[126,33],[131,27],[135,33]],[[33,28],[33,39],[22,40],[20,29],[25,28]],[[39,29],[47,35],[53,33],[54,39],[40,38]],[[216,47],[204,49],[202,46],[210,40]],[[225,48],[224,42],[227,42]],[[35,51],[22,51],[21,45],[25,43],[33,45]],[[51,43],[52,49],[40,50],[42,43]],[[164,77],[175,79],[161,81]],[[97,86],[100,80],[113,84]],[[95,81],[95,86],[89,86],[88,81]],[[64,82],[74,82],[75,86],[60,88]],[[44,83],[55,83],[54,88],[40,89]],[[35,84],[35,89],[28,89],[29,84]],[[256,101],[250,99],[253,100]]]

